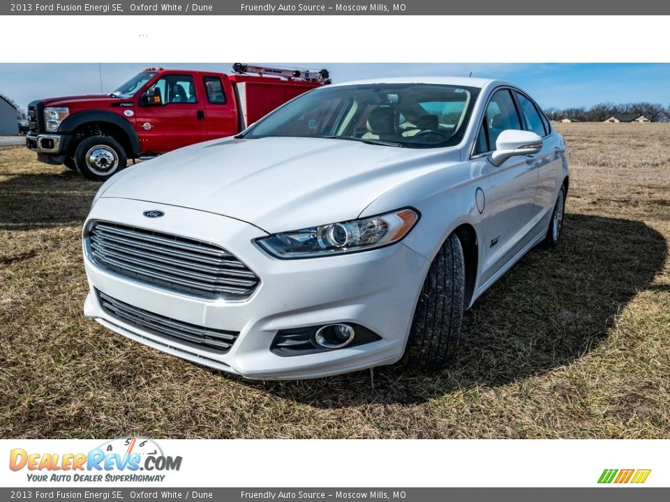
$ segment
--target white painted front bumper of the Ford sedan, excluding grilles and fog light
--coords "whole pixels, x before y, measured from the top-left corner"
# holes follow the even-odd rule
[[[159,209],[163,218],[142,213]],[[260,285],[244,301],[207,300],[152,287],[105,271],[84,246],[91,293],[84,305],[95,319],[133,340],[196,363],[250,379],[304,379],[392,364],[401,358],[429,261],[402,243],[343,256],[280,260],[253,243],[253,225],[187,208],[126,199],[98,200],[89,220],[107,220],[220,245],[244,261]],[[207,328],[239,332],[227,353],[215,354],[112,317],[95,291],[140,309]],[[300,356],[270,351],[278,330],[335,322],[360,324],[381,340]]]

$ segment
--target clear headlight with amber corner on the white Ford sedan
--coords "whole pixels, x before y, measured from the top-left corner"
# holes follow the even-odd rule
[[[330,254],[380,248],[401,240],[419,221],[413,209],[294,230],[258,239],[258,244],[277,258],[313,258]]]

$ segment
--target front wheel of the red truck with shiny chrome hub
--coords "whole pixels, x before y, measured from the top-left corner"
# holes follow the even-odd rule
[[[84,178],[105,181],[126,167],[124,147],[110,136],[91,136],[82,139],[75,149],[75,164]]]

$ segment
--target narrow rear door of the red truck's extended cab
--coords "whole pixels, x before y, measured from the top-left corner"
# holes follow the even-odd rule
[[[204,123],[208,139],[232,136],[239,132],[232,86],[224,84],[219,75],[202,77],[206,102]]]

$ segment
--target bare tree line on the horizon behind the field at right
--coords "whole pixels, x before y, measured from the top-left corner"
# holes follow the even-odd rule
[[[670,105],[664,107],[660,103],[650,103],[646,101],[618,104],[613,102],[602,102],[593,105],[590,108],[549,108],[544,110],[544,113],[547,118],[552,121],[570,119],[580,122],[602,122],[615,114],[644,115],[652,122],[670,121]]]

